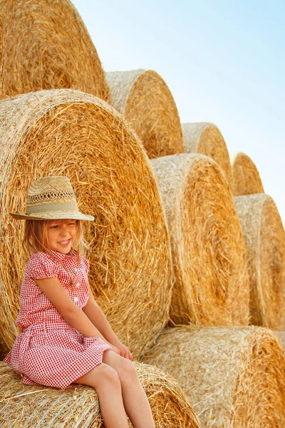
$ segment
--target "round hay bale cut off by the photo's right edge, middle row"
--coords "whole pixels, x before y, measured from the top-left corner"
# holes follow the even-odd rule
[[[285,233],[279,212],[262,193],[234,200],[247,248],[251,322],[279,330],[285,289]]]

